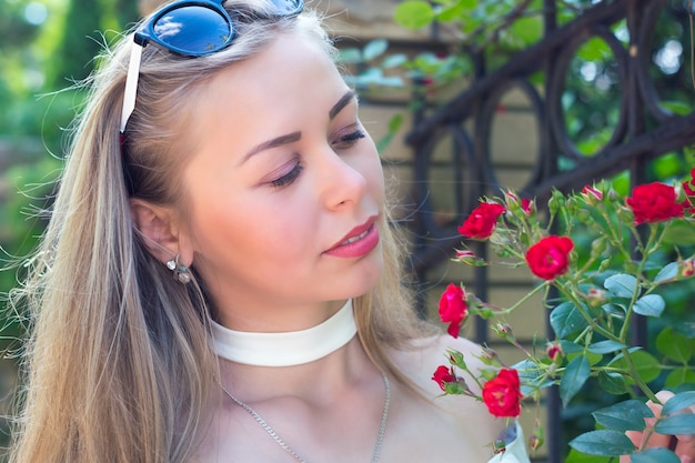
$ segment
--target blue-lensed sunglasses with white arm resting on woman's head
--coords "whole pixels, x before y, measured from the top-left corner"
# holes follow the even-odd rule
[[[121,134],[135,109],[138,79],[142,49],[148,43],[158,46],[182,57],[204,57],[229,47],[234,37],[234,21],[222,7],[224,0],[179,0],[162,7],[144,22],[133,36],[130,54]],[[295,17],[302,12],[304,0],[272,0],[271,18]]]

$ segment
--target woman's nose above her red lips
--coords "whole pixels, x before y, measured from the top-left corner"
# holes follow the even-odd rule
[[[316,165],[319,197],[329,209],[359,203],[369,189],[370,163],[352,152],[338,154],[328,148]]]

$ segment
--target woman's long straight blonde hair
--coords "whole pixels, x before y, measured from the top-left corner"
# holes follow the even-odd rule
[[[135,197],[181,201],[175,179],[190,150],[177,134],[187,108],[215,72],[280,33],[308,34],[333,53],[312,12],[242,19],[231,47],[194,61],[147,47],[123,145],[128,162],[119,122],[132,36],[90,78],[50,224],[13,294],[28,313],[30,335],[12,463],[191,460],[216,387],[210,312],[200,286],[174,281],[147,250],[131,219],[125,177]],[[359,335],[377,368],[406,382],[386,349],[419,335],[420,324],[401,284],[401,246],[384,229],[386,270],[377,289],[355,300]]]

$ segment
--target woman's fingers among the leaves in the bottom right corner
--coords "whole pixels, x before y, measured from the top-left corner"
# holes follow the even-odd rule
[[[656,397],[661,403],[666,403],[673,397],[673,392],[661,391]],[[625,434],[639,450],[649,447],[666,447],[673,450],[681,459],[682,463],[695,463],[695,434],[687,435],[665,435],[654,432],[656,419],[662,414],[662,405],[648,401],[646,405],[652,410],[655,417],[645,419],[646,429],[644,431],[627,431]],[[688,409],[686,409],[687,411]],[[689,407],[691,413],[695,413],[695,406]],[[629,455],[622,455],[621,463],[629,463]]]

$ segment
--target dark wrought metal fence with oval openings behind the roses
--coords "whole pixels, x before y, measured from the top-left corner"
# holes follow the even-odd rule
[[[412,271],[419,281],[427,281],[429,271],[451,255],[461,242],[452,229],[436,220],[435,208],[430,204],[434,187],[429,174],[433,153],[443,138],[451,140],[449,168],[453,172],[451,189],[455,214],[464,218],[482,195],[495,195],[502,184],[491,161],[492,130],[502,98],[510,91],[521,91],[530,102],[536,121],[538,150],[530,181],[522,191],[530,197],[548,198],[553,188],[562,191],[581,189],[618,172],[629,172],[631,184],[644,182],[647,164],[664,153],[678,151],[695,142],[695,112],[677,115],[662,103],[649,67],[655,29],[663,20],[666,0],[616,0],[596,3],[576,20],[558,26],[556,2],[544,1],[544,37],[536,44],[510,59],[494,72],[485,71],[484,57],[474,56],[474,81],[443,107],[427,110],[424,104],[414,110],[414,124],[406,142],[414,150],[413,202],[417,208],[411,213],[414,236]],[[681,11],[687,14],[686,3]],[[614,26],[624,24],[628,43],[618,39]],[[612,51],[620,83],[617,120],[607,141],[596,152],[581,152],[568,135],[563,109],[566,76],[577,50],[587,40],[598,38]],[[684,49],[688,48],[684,43]],[[543,88],[532,78],[542,73]],[[693,89],[695,93],[695,89]],[[692,107],[692,102],[688,102]],[[564,168],[572,165],[572,168]],[[441,187],[440,187],[441,188]],[[480,243],[476,253],[485,255]],[[473,291],[485,299],[488,274],[476,268]],[[550,325],[546,324],[548,335]],[[636,343],[646,343],[646,322],[638,320],[634,328]],[[475,341],[487,341],[484,322],[475,326]],[[547,459],[558,463],[562,459],[560,402],[556,392],[547,397]]]

